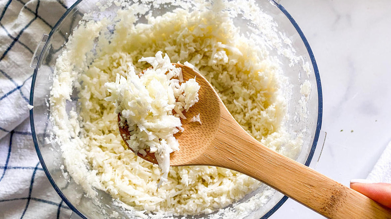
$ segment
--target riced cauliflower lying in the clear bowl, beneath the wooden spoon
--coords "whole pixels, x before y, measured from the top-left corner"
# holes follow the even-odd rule
[[[241,35],[226,14],[177,8],[162,16],[146,15],[147,24],[134,24],[132,9],[117,12],[110,39],[100,34],[111,25],[105,18],[80,25],[56,62],[51,120],[66,171],[87,196],[95,197],[98,189],[141,213],[197,215],[224,208],[261,185],[221,167],[179,166],[170,167],[167,181],[156,189],[158,166],[127,149],[115,105],[105,100],[110,93],[104,84],[129,69],[145,69],[148,64],[138,60],[159,50],[172,62],[205,75],[252,136],[284,155],[297,156],[302,140],[292,139],[282,125],[287,101],[280,91],[279,62]],[[91,51],[94,39],[97,45]],[[78,91],[78,108],[67,113],[73,89]]]

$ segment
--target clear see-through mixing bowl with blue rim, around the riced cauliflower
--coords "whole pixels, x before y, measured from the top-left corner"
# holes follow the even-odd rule
[[[57,145],[55,141],[48,141],[46,139],[52,134],[52,125],[49,120],[50,102],[48,102],[48,97],[53,83],[53,70],[56,59],[61,54],[65,42],[85,13],[96,11],[96,13],[93,13],[95,19],[112,17],[115,14],[114,9],[119,7],[112,5],[106,11],[101,12],[96,6],[96,2],[98,0],[78,0],[62,15],[49,35],[44,35],[42,42],[38,45],[31,64],[35,68],[30,95],[30,104],[35,106],[30,111],[31,128],[42,167],[58,194],[77,215],[82,218],[103,218],[109,215],[112,210],[116,210],[119,212],[120,217],[127,217],[129,215],[126,215],[120,207],[112,204],[112,199],[107,193],[99,192],[99,199],[103,204],[98,206],[90,198],[83,195],[84,191],[80,185],[76,184],[73,180],[64,178],[60,145]],[[104,4],[105,0],[99,2]],[[297,157],[297,161],[309,165],[317,145],[322,121],[322,90],[315,58],[303,32],[282,5],[271,0],[258,0],[256,3],[262,11],[273,17],[277,24],[275,28],[289,37],[296,54],[301,55],[303,60],[308,61],[308,65],[306,66],[303,62],[290,65],[288,58],[278,54],[278,52],[273,51],[273,48],[271,48],[271,52],[279,57],[284,74],[288,77],[289,84],[292,85],[292,92],[289,96],[288,113],[290,118],[289,122],[287,122],[288,131],[297,133],[298,131],[305,130],[303,132],[304,144]],[[165,5],[164,7],[151,8],[151,10],[154,11],[154,14],[161,14],[175,7],[173,5]],[[251,28],[246,28],[251,26],[250,21],[242,18],[240,14],[235,19],[235,24],[243,27],[241,31],[251,31]],[[312,73],[307,75],[304,72],[305,67],[309,67]],[[297,118],[297,111],[302,107],[298,102],[302,98],[300,88],[304,80],[311,82],[312,90],[307,102],[307,114],[304,119],[301,119]],[[77,93],[74,93],[72,98],[76,99]],[[69,102],[67,107],[74,106],[75,102]],[[266,187],[266,185],[261,186],[240,200],[240,202],[248,200],[255,193],[262,192]],[[246,218],[267,218],[286,199],[287,197],[283,194],[275,192],[261,208],[254,209],[250,215],[245,216]],[[106,215],[102,214],[102,210],[106,212]],[[197,218],[197,216],[193,218]]]

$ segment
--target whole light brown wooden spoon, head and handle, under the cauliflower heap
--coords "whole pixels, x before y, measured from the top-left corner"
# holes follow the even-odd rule
[[[184,80],[197,75],[200,100],[184,113],[188,116],[200,113],[202,125],[182,119],[185,130],[175,135],[180,148],[170,154],[171,166],[230,168],[270,185],[328,218],[391,218],[390,209],[261,144],[232,117],[203,75],[187,66],[175,65],[182,68]],[[123,138],[129,135],[126,126],[120,126],[119,130]],[[157,163],[153,153],[138,155]]]

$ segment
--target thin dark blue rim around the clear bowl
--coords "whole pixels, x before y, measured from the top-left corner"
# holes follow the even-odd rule
[[[52,34],[57,30],[58,26],[60,25],[60,23],[63,21],[63,19],[81,2],[82,0],[77,0],[74,4],[72,4],[71,7],[69,7],[67,9],[67,11],[65,11],[65,13],[60,17],[60,19],[57,21],[56,25],[54,25],[54,27],[52,28],[52,30],[50,31],[49,33],[49,37],[48,37],[48,40],[47,42],[50,42],[51,38],[52,38]],[[296,21],[293,19],[293,17],[288,13],[288,11],[279,3],[275,2],[275,0],[272,0],[272,2],[288,17],[288,19],[291,21],[292,25],[295,27],[295,29],[297,30],[297,32],[299,33],[301,39],[303,40],[303,43],[305,45],[305,47],[307,48],[307,51],[308,51],[308,54],[311,58],[311,62],[312,62],[312,66],[314,68],[314,73],[315,73],[315,78],[316,78],[316,85],[317,85],[317,90],[318,90],[318,119],[317,119],[317,124],[316,124],[316,131],[315,131],[315,136],[314,136],[314,141],[312,143],[312,146],[311,146],[311,150],[308,154],[308,157],[307,157],[307,160],[305,161],[305,165],[308,166],[312,160],[312,157],[314,155],[314,151],[315,151],[315,148],[316,148],[316,144],[318,142],[318,139],[319,139],[319,134],[320,134],[320,128],[322,126],[322,110],[323,110],[323,99],[322,99],[322,85],[321,85],[321,82],[320,82],[320,75],[319,75],[319,69],[318,69],[318,65],[316,64],[316,60],[315,60],[315,56],[312,52],[312,49],[307,41],[307,38],[304,36],[304,33],[303,31],[301,31],[299,25],[296,23]],[[44,45],[44,48],[43,48],[43,52],[41,53],[39,59],[38,59],[38,63],[37,63],[37,67],[34,69],[34,74],[33,74],[33,78],[32,78],[32,82],[31,82],[31,89],[30,89],[30,104],[33,105],[34,104],[34,86],[35,86],[35,81],[36,81],[36,77],[37,77],[37,73],[38,73],[38,69],[39,69],[39,66],[41,65],[41,62],[42,62],[42,54],[44,54],[44,52],[46,51],[47,49],[47,45],[48,43],[45,43]],[[78,214],[78,216],[84,218],[84,219],[87,219],[86,216],[83,215],[83,213],[81,213],[78,209],[76,209],[76,207],[68,200],[68,198],[63,194],[63,192],[60,190],[60,188],[57,186],[57,184],[55,183],[55,181],[53,180],[53,177],[50,175],[49,173],[49,170],[48,168],[46,167],[46,164],[45,164],[45,161],[42,157],[42,154],[41,154],[41,149],[39,148],[39,144],[38,144],[38,140],[37,140],[37,135],[36,135],[36,132],[35,132],[35,126],[34,126],[34,110],[30,110],[30,125],[31,125],[31,131],[32,131],[32,135],[33,135],[33,141],[34,141],[34,145],[35,145],[35,149],[37,151],[37,155],[38,155],[38,158],[41,162],[41,165],[42,165],[42,168],[44,169],[45,171],[45,174],[46,176],[48,177],[50,183],[52,184],[52,186],[54,187],[54,189],[56,190],[56,192],[60,195],[60,197],[64,200],[64,202],[68,205],[68,207],[75,213]],[[263,215],[261,217],[261,219],[266,219],[268,217],[270,217],[278,208],[281,207],[281,205],[288,199],[288,196],[283,196],[281,198],[281,200],[279,202],[277,202],[276,205],[274,205],[274,207],[272,209],[270,209],[265,215]]]

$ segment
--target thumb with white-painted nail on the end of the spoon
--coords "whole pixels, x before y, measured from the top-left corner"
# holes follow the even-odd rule
[[[350,180],[350,187],[379,204],[391,208],[390,183],[371,183],[366,179],[352,179]]]

